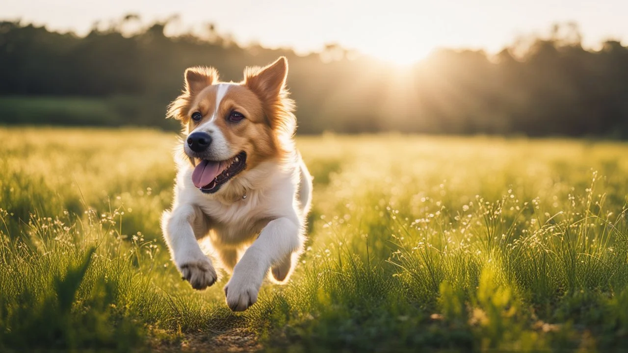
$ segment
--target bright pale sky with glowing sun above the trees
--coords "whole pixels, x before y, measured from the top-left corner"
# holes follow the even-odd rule
[[[547,33],[557,21],[580,24],[587,46],[628,40],[625,0],[19,0],[2,8],[0,18],[78,34],[127,13],[143,23],[179,14],[179,30],[214,23],[240,43],[306,52],[335,42],[400,63],[438,46],[496,52],[518,35]]]

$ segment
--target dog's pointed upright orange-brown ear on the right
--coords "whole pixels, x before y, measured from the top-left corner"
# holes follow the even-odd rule
[[[259,99],[267,103],[279,98],[279,94],[286,85],[288,77],[288,60],[279,57],[268,66],[247,67],[244,70],[244,84],[249,87]]]

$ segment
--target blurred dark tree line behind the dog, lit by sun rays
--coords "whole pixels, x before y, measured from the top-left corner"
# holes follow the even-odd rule
[[[285,55],[299,133],[628,138],[628,47],[608,40],[596,50],[583,48],[575,24],[522,38],[497,55],[441,49],[404,68],[337,45],[308,55],[241,46],[213,27],[203,38],[166,36],[167,24],[131,35],[118,24],[77,36],[0,22],[0,122],[176,129],[163,118],[185,68],[214,66],[221,79],[239,81],[245,66]],[[53,114],[51,99],[70,102],[74,111]]]

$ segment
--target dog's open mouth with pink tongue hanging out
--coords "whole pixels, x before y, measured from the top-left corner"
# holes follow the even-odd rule
[[[246,168],[244,151],[224,161],[202,160],[192,172],[192,182],[204,193],[215,193],[244,168]]]

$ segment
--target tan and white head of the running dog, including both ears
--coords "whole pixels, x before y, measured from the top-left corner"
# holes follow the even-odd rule
[[[220,82],[210,67],[185,70],[183,93],[168,115],[183,125],[182,148],[194,167],[195,187],[225,190],[264,161],[279,161],[293,150],[296,119],[287,75],[284,57],[246,68],[239,83]]]

